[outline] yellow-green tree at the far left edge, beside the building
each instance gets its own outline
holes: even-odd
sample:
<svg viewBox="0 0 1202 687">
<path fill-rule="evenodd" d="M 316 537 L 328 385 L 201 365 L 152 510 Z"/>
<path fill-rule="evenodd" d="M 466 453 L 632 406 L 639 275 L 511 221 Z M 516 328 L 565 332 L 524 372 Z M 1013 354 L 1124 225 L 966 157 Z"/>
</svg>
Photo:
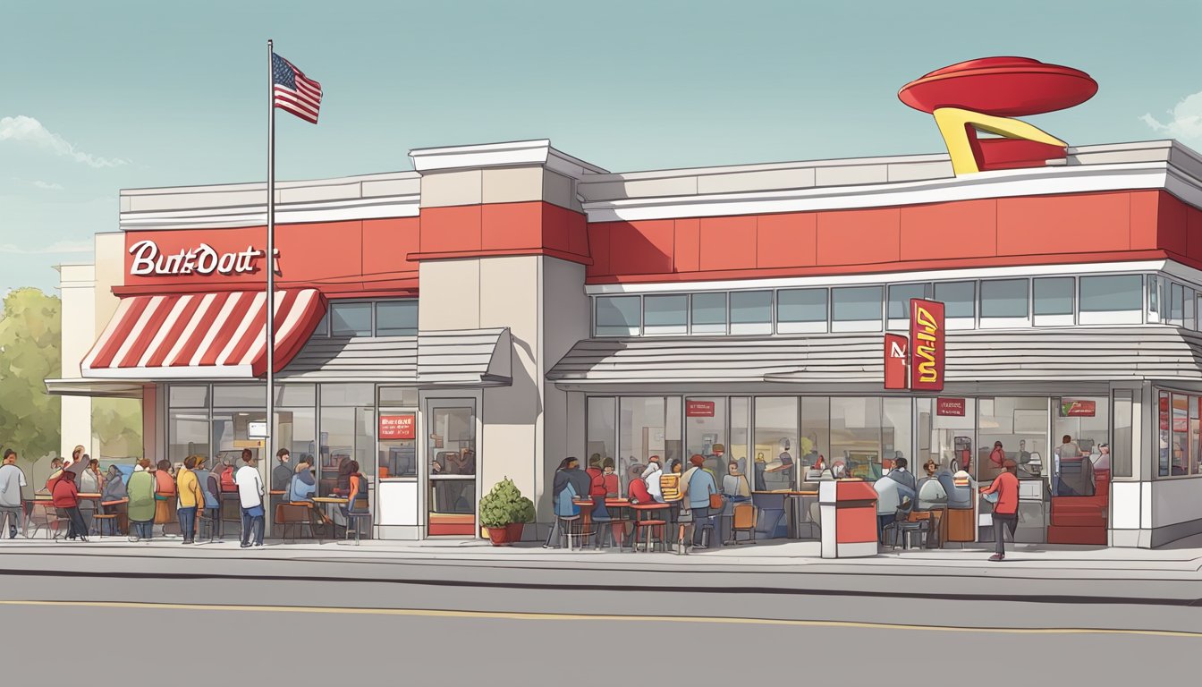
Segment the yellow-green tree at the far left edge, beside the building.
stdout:
<svg viewBox="0 0 1202 687">
<path fill-rule="evenodd" d="M 38 289 L 14 289 L 0 314 L 0 444 L 26 461 L 59 450 L 58 396 L 44 379 L 61 374 L 61 301 Z"/>
</svg>

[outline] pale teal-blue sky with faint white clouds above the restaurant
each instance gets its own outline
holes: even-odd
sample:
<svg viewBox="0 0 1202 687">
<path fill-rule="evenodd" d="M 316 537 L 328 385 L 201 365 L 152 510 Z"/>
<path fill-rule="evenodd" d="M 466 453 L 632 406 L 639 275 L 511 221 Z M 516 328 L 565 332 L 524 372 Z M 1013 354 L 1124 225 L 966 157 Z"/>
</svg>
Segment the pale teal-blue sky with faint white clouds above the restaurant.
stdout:
<svg viewBox="0 0 1202 687">
<path fill-rule="evenodd" d="M 1202 2 L 5 4 L 0 292 L 52 290 L 118 190 L 266 176 L 266 40 L 322 82 L 278 176 L 410 168 L 428 146 L 547 137 L 613 171 L 942 149 L 897 90 L 996 54 L 1089 72 L 1030 118 L 1072 144 L 1202 148 Z"/>
</svg>

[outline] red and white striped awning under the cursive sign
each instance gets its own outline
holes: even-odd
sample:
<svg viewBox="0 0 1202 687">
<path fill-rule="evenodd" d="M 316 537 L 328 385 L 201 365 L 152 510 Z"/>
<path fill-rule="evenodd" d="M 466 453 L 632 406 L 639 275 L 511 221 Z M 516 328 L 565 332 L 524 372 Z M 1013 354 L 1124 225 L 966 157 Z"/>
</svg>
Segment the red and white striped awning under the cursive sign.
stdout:
<svg viewBox="0 0 1202 687">
<path fill-rule="evenodd" d="M 275 292 L 275 371 L 326 314 L 315 289 Z M 267 372 L 263 291 L 130 296 L 81 363 L 106 379 L 245 379 Z"/>
</svg>

